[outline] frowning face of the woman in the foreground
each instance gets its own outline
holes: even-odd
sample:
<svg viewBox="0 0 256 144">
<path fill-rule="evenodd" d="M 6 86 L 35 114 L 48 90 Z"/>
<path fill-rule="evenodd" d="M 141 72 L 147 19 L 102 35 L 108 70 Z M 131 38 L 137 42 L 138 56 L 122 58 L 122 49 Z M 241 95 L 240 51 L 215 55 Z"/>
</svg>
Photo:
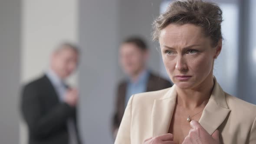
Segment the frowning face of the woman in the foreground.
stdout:
<svg viewBox="0 0 256 144">
<path fill-rule="evenodd" d="M 159 36 L 164 66 L 172 82 L 182 89 L 192 89 L 212 80 L 214 59 L 221 41 L 212 47 L 199 26 L 169 24 Z"/>
</svg>

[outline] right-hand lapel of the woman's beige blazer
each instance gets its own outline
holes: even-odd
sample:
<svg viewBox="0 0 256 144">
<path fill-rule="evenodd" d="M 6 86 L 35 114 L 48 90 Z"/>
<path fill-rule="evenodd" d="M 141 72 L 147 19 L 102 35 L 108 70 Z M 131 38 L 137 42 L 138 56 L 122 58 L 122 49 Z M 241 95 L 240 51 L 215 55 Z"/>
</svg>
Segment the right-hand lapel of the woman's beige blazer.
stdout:
<svg viewBox="0 0 256 144">
<path fill-rule="evenodd" d="M 225 93 L 214 78 L 212 95 L 203 110 L 199 123 L 211 135 L 226 119 L 230 109 L 226 104 Z"/>
</svg>

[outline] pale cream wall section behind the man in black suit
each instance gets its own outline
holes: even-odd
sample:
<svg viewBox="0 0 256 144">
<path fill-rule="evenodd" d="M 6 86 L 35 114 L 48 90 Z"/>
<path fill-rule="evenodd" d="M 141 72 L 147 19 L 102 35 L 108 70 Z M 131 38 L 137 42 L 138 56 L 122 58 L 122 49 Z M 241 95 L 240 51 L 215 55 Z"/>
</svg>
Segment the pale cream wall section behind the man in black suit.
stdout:
<svg viewBox="0 0 256 144">
<path fill-rule="evenodd" d="M 77 0 L 22 0 L 21 82 L 48 68 L 49 56 L 63 41 L 78 42 Z M 77 74 L 69 79 L 76 85 Z M 14 144 L 14 143 L 13 143 Z M 20 144 L 27 144 L 26 124 L 20 124 Z"/>
</svg>

